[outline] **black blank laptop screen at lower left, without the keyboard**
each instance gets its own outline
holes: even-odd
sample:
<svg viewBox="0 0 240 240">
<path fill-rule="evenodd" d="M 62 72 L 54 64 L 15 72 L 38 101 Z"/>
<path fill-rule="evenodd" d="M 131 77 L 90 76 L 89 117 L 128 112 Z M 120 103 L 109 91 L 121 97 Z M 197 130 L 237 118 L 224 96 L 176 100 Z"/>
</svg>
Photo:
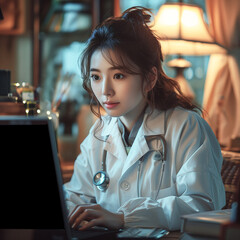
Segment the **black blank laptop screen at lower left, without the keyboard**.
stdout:
<svg viewBox="0 0 240 240">
<path fill-rule="evenodd" d="M 48 120 L 0 118 L 0 229 L 64 229 Z"/>
</svg>

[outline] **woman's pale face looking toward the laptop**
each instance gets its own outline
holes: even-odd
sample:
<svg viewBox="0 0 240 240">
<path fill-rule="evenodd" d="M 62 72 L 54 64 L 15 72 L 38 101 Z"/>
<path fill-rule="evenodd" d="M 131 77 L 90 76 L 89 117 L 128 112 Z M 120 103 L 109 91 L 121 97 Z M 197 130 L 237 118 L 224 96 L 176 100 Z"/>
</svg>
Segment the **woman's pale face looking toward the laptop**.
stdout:
<svg viewBox="0 0 240 240">
<path fill-rule="evenodd" d="M 118 63 L 114 52 L 110 51 L 109 54 L 113 62 Z M 140 72 L 136 65 L 134 67 Z M 114 67 L 101 50 L 96 50 L 91 57 L 90 76 L 92 90 L 107 114 L 120 117 L 127 129 L 131 130 L 146 106 L 142 76 Z"/>
</svg>

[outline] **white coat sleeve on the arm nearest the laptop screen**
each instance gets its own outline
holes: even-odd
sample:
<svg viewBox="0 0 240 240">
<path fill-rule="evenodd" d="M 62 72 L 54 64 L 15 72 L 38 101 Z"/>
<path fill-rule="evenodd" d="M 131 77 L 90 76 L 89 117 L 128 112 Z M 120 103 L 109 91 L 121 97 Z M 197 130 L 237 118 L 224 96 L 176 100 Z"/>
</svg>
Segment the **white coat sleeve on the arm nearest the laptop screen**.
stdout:
<svg viewBox="0 0 240 240">
<path fill-rule="evenodd" d="M 74 163 L 74 172 L 70 182 L 64 184 L 65 200 L 68 211 L 76 205 L 95 203 L 95 193 L 92 184 L 92 171 L 87 156 L 87 140 L 81 145 L 81 153 Z"/>
</svg>

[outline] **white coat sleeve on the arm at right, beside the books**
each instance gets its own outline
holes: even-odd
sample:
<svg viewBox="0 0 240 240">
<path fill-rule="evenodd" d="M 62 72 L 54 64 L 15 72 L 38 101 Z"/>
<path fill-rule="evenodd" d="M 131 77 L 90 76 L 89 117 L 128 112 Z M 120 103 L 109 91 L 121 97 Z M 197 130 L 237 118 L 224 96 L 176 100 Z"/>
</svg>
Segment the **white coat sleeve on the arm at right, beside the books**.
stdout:
<svg viewBox="0 0 240 240">
<path fill-rule="evenodd" d="M 176 196 L 156 201 L 145 197 L 130 199 L 118 209 L 124 213 L 126 227 L 178 230 L 182 215 L 225 205 L 220 174 L 222 155 L 210 127 L 202 119 L 191 118 L 179 136 L 176 146 L 169 149 L 176 152 L 177 174 L 173 179 Z"/>
</svg>

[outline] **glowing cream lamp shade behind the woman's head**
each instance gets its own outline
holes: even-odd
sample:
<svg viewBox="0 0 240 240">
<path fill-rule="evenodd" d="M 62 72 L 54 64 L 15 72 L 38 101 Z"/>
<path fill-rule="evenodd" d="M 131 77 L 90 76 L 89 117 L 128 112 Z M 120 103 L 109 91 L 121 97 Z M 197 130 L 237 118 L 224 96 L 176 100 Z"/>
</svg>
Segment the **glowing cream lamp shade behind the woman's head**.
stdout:
<svg viewBox="0 0 240 240">
<path fill-rule="evenodd" d="M 226 51 L 210 35 L 203 11 L 196 5 L 163 4 L 152 29 L 162 39 L 164 54 L 208 55 Z"/>
</svg>

